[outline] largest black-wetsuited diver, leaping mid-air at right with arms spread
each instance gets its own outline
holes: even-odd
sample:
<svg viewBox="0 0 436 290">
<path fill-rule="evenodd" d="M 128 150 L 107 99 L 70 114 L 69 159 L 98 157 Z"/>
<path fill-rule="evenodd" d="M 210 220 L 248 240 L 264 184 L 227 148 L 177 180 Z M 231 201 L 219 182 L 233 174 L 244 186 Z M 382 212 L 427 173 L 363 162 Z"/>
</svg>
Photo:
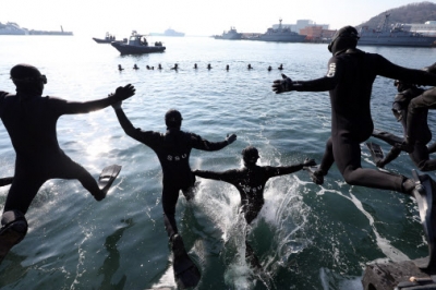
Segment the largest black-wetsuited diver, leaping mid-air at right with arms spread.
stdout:
<svg viewBox="0 0 436 290">
<path fill-rule="evenodd" d="M 332 57 L 324 77 L 312 81 L 282 80 L 272 84 L 277 94 L 329 90 L 331 102 L 331 136 L 327 141 L 319 169 L 313 174 L 323 184 L 331 165 L 336 161 L 346 182 L 374 189 L 392 190 L 412 194 L 415 183 L 401 174 L 366 169 L 361 166 L 360 143 L 366 141 L 374 130 L 371 117 L 371 92 L 377 75 L 407 80 L 417 85 L 435 85 L 436 75 L 396 65 L 377 53 L 356 48 L 358 31 L 352 26 L 340 28 L 328 45 Z"/>
</svg>

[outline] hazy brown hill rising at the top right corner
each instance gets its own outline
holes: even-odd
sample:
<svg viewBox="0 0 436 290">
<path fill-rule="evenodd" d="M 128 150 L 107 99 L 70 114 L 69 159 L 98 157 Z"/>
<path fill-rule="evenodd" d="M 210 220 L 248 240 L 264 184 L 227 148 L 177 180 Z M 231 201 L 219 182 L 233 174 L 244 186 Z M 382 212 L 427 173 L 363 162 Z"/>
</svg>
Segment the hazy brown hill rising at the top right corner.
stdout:
<svg viewBox="0 0 436 290">
<path fill-rule="evenodd" d="M 426 21 L 436 21 L 436 3 L 425 1 L 390 9 L 388 11 L 382 12 L 377 16 L 372 17 L 365 23 L 359 24 L 356 27 L 377 27 L 385 19 L 386 13 L 390 14 L 389 23 L 391 24 L 425 23 Z"/>
</svg>

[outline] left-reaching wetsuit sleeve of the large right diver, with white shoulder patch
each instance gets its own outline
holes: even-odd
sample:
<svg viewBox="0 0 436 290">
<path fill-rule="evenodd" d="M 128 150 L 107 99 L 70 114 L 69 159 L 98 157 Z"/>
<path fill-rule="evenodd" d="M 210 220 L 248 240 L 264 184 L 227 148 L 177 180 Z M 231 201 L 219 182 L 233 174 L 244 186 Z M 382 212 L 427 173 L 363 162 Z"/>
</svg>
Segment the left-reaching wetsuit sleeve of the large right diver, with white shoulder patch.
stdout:
<svg viewBox="0 0 436 290">
<path fill-rule="evenodd" d="M 338 84 L 342 67 L 337 58 L 331 58 L 328 62 L 328 71 L 324 77 L 312 81 L 295 81 L 293 82 L 293 90 L 298 92 L 326 92 L 331 90 Z"/>
</svg>

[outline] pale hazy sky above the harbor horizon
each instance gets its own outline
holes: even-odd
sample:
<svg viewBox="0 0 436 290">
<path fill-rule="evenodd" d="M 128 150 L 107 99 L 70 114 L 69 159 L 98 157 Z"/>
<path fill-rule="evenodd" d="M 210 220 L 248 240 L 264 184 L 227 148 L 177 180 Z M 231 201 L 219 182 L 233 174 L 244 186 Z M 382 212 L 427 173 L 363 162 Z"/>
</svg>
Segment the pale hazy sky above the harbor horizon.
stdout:
<svg viewBox="0 0 436 290">
<path fill-rule="evenodd" d="M 283 24 L 312 20 L 331 29 L 358 25 L 413 0 L 1 0 L 0 22 L 31 29 L 102 36 L 147 34 L 171 27 L 186 35 L 214 35 L 235 26 L 242 33 L 264 33 L 281 17 Z M 431 1 L 435 2 L 435 1 Z"/>
</svg>

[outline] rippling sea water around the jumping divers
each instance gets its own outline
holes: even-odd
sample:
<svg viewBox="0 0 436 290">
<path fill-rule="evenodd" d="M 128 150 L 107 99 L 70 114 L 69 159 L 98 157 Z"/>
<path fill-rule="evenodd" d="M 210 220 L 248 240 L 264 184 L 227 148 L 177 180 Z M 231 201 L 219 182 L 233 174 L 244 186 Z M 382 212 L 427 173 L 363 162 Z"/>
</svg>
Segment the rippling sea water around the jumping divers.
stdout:
<svg viewBox="0 0 436 290">
<path fill-rule="evenodd" d="M 213 142 L 238 135 L 219 152 L 194 149 L 193 169 L 239 168 L 247 145 L 258 148 L 262 166 L 288 166 L 306 157 L 320 161 L 330 131 L 328 93 L 276 95 L 271 84 L 280 73 L 293 80 L 323 76 L 330 58 L 327 45 L 207 37 L 156 37 L 149 43 L 156 40 L 167 47 L 164 53 L 120 56 L 90 37 L 2 36 L 0 89 L 13 93 L 10 69 L 31 63 L 47 75 L 44 95 L 72 101 L 104 98 L 118 86 L 134 85 L 136 94 L 123 108 L 136 128 L 165 132 L 164 116 L 174 108 L 183 116 L 182 130 Z M 414 69 L 436 59 L 433 48 L 362 49 Z M 178 71 L 170 70 L 174 63 Z M 209 63 L 211 70 L 206 69 Z M 253 70 L 246 69 L 249 63 Z M 280 63 L 283 71 L 277 70 Z M 118 64 L 124 70 L 120 72 Z M 140 70 L 133 70 L 134 64 Z M 377 129 L 401 135 L 390 110 L 392 83 L 376 78 L 373 119 Z M 434 131 L 433 112 L 429 119 Z M 58 138 L 61 148 L 95 178 L 111 164 L 121 165 L 122 171 L 102 202 L 77 181 L 47 181 L 26 214 L 26 238 L 0 265 L 0 288 L 175 289 L 162 220 L 162 173 L 154 152 L 124 134 L 110 107 L 61 117 Z M 364 144 L 361 147 L 362 166 L 375 168 Z M 14 158 L 0 125 L 0 177 L 13 176 Z M 413 168 L 405 154 L 387 166 L 405 176 Z M 202 271 L 197 289 L 362 289 L 367 263 L 428 253 L 412 198 L 350 186 L 336 166 L 322 186 L 304 171 L 270 179 L 265 206 L 250 227 L 239 215 L 240 196 L 233 186 L 198 181 L 195 200 L 186 202 L 181 195 L 177 206 L 186 250 Z M 8 191 L 9 186 L 0 189 L 0 209 Z M 245 239 L 259 257 L 262 275 L 244 259 Z"/>
</svg>

